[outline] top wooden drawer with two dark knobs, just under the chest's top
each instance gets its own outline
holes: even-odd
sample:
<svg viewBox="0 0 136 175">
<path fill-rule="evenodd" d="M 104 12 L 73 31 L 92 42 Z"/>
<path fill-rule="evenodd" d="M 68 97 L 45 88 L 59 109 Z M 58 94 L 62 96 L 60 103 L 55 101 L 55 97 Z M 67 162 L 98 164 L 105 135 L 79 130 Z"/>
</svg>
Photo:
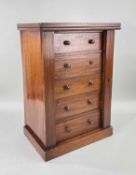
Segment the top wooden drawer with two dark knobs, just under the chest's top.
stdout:
<svg viewBox="0 0 136 175">
<path fill-rule="evenodd" d="M 101 48 L 102 48 L 102 33 L 54 34 L 55 53 L 101 50 Z"/>
</svg>

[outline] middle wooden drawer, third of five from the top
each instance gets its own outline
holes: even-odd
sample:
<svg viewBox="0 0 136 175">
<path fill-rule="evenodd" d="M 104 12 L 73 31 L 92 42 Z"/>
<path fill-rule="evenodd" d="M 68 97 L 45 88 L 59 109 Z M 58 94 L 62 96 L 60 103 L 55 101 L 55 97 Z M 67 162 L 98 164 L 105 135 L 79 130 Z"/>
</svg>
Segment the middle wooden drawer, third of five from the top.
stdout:
<svg viewBox="0 0 136 175">
<path fill-rule="evenodd" d="M 101 75 L 89 75 L 55 81 L 55 99 L 100 89 Z"/>
</svg>

